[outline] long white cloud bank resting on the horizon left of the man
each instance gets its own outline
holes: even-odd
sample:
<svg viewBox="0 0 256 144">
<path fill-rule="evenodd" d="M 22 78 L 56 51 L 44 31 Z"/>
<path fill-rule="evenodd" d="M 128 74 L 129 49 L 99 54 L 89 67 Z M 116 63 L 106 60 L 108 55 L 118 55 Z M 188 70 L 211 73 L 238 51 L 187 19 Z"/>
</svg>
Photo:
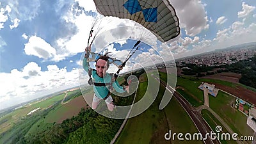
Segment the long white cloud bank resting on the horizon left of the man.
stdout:
<svg viewBox="0 0 256 144">
<path fill-rule="evenodd" d="M 52 92 L 79 85 L 78 68 L 67 72 L 66 68 L 48 65 L 46 71 L 35 62 L 28 63 L 22 70 L 0 73 L 0 106 L 6 108 L 27 100 L 36 99 Z"/>
</svg>

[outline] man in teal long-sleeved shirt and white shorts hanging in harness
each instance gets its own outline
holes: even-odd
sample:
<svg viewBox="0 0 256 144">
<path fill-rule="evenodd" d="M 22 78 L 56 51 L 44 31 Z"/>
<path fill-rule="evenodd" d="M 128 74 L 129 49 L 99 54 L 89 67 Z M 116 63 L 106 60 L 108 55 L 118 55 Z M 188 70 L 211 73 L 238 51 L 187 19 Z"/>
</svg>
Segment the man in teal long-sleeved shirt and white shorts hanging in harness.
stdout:
<svg viewBox="0 0 256 144">
<path fill-rule="evenodd" d="M 91 45 L 86 49 L 87 52 L 91 51 Z M 113 88 L 118 93 L 124 93 L 129 92 L 129 86 L 125 86 L 125 89 L 118 84 L 117 81 L 113 81 L 113 76 L 111 74 L 108 74 L 107 70 L 109 68 L 109 61 L 108 56 L 106 54 L 104 56 L 100 56 L 100 58 L 96 61 L 96 70 L 92 70 L 92 77 L 93 77 L 93 102 L 92 102 L 92 109 L 96 109 L 100 100 L 105 100 L 109 111 L 113 111 L 114 109 L 114 103 L 113 99 L 109 92 L 109 87 L 113 86 Z M 88 70 L 88 61 L 86 56 L 84 56 L 83 60 L 83 68 L 86 70 L 86 72 L 89 72 Z M 95 84 L 96 83 L 96 84 Z M 105 84 L 105 85 L 104 85 Z"/>
</svg>

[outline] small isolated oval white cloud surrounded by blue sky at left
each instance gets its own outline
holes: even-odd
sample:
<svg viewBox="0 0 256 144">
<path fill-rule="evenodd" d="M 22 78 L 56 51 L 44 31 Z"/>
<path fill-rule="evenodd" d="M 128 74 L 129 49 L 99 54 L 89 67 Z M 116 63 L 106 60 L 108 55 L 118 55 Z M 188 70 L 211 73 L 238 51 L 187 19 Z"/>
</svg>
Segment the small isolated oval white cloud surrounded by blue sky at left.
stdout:
<svg viewBox="0 0 256 144">
<path fill-rule="evenodd" d="M 38 56 L 47 60 L 56 55 L 56 50 L 45 40 L 37 36 L 31 36 L 27 44 L 25 44 L 24 51 L 28 55 Z"/>
</svg>

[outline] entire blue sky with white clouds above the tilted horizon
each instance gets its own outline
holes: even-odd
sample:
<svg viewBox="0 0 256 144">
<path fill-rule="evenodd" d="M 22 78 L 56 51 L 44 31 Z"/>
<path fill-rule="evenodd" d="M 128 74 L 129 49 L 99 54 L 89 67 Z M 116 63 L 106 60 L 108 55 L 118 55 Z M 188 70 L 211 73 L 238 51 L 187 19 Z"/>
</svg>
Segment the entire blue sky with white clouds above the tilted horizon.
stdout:
<svg viewBox="0 0 256 144">
<path fill-rule="evenodd" d="M 177 59 L 256 41 L 255 0 L 170 3 L 179 17 L 180 35 L 161 44 L 131 20 L 100 17 L 92 0 L 0 0 L 0 109 L 78 86 L 79 79 L 87 79 L 81 60 L 96 22 L 92 50 L 108 49 L 120 60 L 133 44 L 125 39 L 124 27 L 126 32 L 135 25 L 143 31 L 145 44 L 124 72 L 134 63 L 146 64 L 148 58 L 153 62 Z"/>
</svg>

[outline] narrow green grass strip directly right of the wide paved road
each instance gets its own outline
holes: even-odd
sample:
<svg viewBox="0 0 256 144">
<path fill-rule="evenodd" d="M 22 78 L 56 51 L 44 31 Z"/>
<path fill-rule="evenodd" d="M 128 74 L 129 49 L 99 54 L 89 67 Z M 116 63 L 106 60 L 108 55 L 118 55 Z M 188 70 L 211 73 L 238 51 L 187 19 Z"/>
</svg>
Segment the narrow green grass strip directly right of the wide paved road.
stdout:
<svg viewBox="0 0 256 144">
<path fill-rule="evenodd" d="M 206 120 L 207 124 L 210 125 L 212 131 L 216 134 L 220 134 L 219 140 L 221 144 L 231 144 L 231 143 L 236 143 L 236 141 L 232 140 L 232 134 L 230 134 L 230 140 L 225 140 L 225 137 L 221 138 L 221 134 L 223 133 L 229 133 L 227 129 L 221 124 L 221 122 L 215 118 L 210 111 L 207 109 L 202 110 L 202 116 Z M 221 132 L 216 132 L 216 127 L 221 126 L 222 131 Z M 217 135 L 218 136 L 218 135 Z M 224 135 L 223 135 L 224 136 Z M 228 138 L 228 137 L 227 137 Z"/>
</svg>

